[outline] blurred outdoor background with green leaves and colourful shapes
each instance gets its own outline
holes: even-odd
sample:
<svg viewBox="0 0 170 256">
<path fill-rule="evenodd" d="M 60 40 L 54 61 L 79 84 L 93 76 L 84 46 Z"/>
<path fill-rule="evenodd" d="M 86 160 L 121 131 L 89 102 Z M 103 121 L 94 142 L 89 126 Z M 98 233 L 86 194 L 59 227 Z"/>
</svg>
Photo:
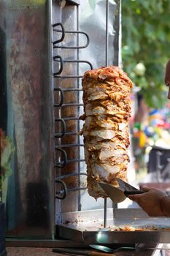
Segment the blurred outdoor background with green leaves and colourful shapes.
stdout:
<svg viewBox="0 0 170 256">
<path fill-rule="evenodd" d="M 134 82 L 131 162 L 137 182 L 169 181 L 170 102 L 164 84 L 169 10 L 168 0 L 122 1 L 122 68 Z"/>
</svg>

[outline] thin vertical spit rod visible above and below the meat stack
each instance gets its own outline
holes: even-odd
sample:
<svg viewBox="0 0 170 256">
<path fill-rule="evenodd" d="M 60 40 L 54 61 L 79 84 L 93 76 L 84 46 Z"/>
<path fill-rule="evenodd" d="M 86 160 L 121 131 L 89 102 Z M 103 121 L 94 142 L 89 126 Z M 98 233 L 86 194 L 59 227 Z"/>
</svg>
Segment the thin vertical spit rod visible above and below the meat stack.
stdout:
<svg viewBox="0 0 170 256">
<path fill-rule="evenodd" d="M 109 21 L 109 0 L 106 2 L 106 67 L 108 66 L 108 21 Z M 104 199 L 104 227 L 107 227 L 107 198 Z"/>
</svg>

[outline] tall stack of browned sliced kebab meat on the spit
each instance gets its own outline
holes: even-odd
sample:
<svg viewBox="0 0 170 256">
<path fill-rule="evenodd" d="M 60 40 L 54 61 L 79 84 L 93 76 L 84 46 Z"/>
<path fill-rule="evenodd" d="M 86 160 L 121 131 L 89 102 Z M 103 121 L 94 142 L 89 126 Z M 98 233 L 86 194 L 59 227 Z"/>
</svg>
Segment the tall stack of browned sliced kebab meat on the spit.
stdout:
<svg viewBox="0 0 170 256">
<path fill-rule="evenodd" d="M 117 187 L 116 178 L 126 180 L 129 162 L 130 92 L 133 83 L 119 67 L 101 67 L 82 78 L 85 120 L 85 162 L 88 193 L 107 197 L 98 181 Z"/>
</svg>

